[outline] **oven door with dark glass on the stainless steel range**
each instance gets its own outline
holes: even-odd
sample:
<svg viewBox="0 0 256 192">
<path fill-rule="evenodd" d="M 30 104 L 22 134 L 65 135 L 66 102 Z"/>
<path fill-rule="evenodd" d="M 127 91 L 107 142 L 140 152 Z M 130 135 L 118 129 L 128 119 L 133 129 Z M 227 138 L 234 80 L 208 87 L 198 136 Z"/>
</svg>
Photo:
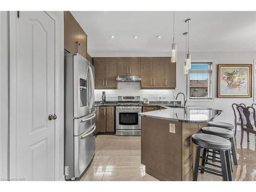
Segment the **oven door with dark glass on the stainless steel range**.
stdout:
<svg viewBox="0 0 256 192">
<path fill-rule="evenodd" d="M 140 130 L 141 110 L 116 110 L 116 130 Z"/>
</svg>

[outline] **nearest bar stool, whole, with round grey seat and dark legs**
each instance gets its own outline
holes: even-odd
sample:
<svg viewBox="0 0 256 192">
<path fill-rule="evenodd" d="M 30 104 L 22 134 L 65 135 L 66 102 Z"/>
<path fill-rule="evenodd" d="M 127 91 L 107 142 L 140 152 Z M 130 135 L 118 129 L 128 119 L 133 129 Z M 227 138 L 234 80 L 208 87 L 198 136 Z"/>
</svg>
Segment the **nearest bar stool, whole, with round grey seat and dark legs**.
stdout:
<svg viewBox="0 0 256 192">
<path fill-rule="evenodd" d="M 231 165 L 229 159 L 229 150 L 231 148 L 230 141 L 222 137 L 209 134 L 194 134 L 192 135 L 191 139 L 192 142 L 197 145 L 193 181 L 197 181 L 199 170 L 203 170 L 206 173 L 221 176 L 223 181 L 232 181 Z M 220 157 L 216 157 L 216 159 L 218 159 L 216 160 L 216 162 L 219 162 L 221 165 L 216 165 L 212 163 L 206 164 L 221 168 L 221 171 L 210 167 L 206 167 L 205 164 L 199 165 L 200 158 L 203 159 L 204 161 L 212 161 L 211 158 L 200 156 L 201 148 L 216 150 L 217 153 L 219 153 Z"/>
</svg>

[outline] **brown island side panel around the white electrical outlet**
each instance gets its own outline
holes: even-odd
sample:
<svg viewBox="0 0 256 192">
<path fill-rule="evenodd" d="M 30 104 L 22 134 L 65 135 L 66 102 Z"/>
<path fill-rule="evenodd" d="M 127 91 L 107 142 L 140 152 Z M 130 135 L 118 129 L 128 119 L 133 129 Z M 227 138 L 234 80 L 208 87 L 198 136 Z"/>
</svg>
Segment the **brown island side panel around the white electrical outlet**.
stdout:
<svg viewBox="0 0 256 192">
<path fill-rule="evenodd" d="M 169 132 L 175 124 L 175 133 Z M 141 163 L 162 181 L 182 180 L 182 123 L 141 117 Z"/>
</svg>

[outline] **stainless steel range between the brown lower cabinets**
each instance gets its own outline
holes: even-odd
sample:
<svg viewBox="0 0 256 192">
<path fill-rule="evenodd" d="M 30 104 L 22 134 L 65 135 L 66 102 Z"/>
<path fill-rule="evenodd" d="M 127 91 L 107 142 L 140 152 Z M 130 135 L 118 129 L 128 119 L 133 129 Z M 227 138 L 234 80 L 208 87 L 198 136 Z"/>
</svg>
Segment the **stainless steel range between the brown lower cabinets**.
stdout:
<svg viewBox="0 0 256 192">
<path fill-rule="evenodd" d="M 140 136 L 141 113 L 140 96 L 118 96 L 116 106 L 116 135 Z"/>
</svg>

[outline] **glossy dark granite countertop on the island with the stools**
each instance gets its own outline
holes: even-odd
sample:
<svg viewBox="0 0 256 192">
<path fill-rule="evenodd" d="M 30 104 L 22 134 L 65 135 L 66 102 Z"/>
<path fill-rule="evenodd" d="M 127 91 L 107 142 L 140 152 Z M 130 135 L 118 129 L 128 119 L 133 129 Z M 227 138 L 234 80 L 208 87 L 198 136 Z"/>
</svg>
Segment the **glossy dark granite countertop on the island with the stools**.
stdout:
<svg viewBox="0 0 256 192">
<path fill-rule="evenodd" d="M 139 113 L 139 115 L 142 117 L 152 117 L 169 121 L 206 123 L 220 115 L 222 112 L 222 110 L 198 106 L 187 106 L 186 108 L 173 108 L 165 106 L 165 108 L 167 109 Z"/>
</svg>

